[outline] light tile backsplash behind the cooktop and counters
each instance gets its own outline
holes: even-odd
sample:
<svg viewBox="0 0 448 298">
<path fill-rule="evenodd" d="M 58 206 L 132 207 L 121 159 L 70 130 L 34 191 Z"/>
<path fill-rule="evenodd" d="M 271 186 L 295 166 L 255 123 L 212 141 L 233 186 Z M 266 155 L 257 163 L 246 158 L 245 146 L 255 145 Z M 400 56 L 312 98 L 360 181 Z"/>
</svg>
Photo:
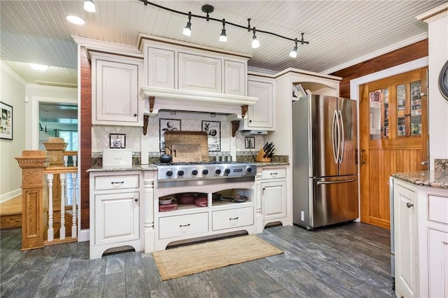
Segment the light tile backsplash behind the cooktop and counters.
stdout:
<svg viewBox="0 0 448 298">
<path fill-rule="evenodd" d="M 109 134 L 126 134 L 126 148 L 132 149 L 135 155 L 140 155 L 141 143 L 147 145 L 149 156 L 159 156 L 160 154 L 160 119 L 181 120 L 181 130 L 200 132 L 202 130 L 202 120 L 218 121 L 221 123 L 221 150 L 219 152 L 209 151 L 209 155 L 225 154 L 232 151 L 247 152 L 248 155 L 256 152 L 264 146 L 264 136 L 255 137 L 255 148 L 245 148 L 245 136 L 237 132 L 235 140 L 232 140 L 232 123 L 225 115 L 215 115 L 210 113 L 183 113 L 183 112 L 160 112 L 155 117 L 150 117 L 148 122 L 148 133 L 143 134 L 141 127 L 109 126 L 97 125 L 92 127 L 92 157 L 100 155 L 103 149 L 109 148 Z M 164 121 L 162 121 L 164 122 Z M 164 122 L 165 123 L 165 122 Z"/>
</svg>

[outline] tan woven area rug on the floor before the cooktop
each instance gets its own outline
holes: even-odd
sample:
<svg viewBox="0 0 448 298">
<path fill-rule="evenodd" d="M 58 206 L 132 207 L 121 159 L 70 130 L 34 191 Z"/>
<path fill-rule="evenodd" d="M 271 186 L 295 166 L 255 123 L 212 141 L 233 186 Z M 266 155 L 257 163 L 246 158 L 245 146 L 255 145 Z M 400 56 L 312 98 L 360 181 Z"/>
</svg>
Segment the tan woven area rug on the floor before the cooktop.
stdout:
<svg viewBox="0 0 448 298">
<path fill-rule="evenodd" d="M 255 235 L 209 241 L 153 253 L 163 281 L 279 255 L 283 251 Z"/>
</svg>

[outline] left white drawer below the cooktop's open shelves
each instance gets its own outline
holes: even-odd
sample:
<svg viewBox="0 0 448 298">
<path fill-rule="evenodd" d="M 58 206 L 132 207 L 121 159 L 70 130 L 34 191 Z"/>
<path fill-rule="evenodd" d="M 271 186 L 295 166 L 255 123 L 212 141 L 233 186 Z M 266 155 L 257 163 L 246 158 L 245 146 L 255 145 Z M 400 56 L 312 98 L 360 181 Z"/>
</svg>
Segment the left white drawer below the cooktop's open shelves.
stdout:
<svg viewBox="0 0 448 298">
<path fill-rule="evenodd" d="M 209 213 L 159 218 L 159 238 L 167 239 L 209 231 Z"/>
</svg>

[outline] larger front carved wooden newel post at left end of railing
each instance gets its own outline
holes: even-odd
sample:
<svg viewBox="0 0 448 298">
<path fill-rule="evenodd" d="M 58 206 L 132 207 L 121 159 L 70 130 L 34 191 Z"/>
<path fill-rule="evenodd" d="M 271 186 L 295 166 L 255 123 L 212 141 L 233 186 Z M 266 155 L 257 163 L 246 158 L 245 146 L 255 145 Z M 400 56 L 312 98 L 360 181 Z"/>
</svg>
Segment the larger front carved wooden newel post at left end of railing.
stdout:
<svg viewBox="0 0 448 298">
<path fill-rule="evenodd" d="M 50 159 L 43 150 L 24 150 L 15 157 L 22 169 L 22 250 L 43 247 L 43 169 Z"/>
</svg>

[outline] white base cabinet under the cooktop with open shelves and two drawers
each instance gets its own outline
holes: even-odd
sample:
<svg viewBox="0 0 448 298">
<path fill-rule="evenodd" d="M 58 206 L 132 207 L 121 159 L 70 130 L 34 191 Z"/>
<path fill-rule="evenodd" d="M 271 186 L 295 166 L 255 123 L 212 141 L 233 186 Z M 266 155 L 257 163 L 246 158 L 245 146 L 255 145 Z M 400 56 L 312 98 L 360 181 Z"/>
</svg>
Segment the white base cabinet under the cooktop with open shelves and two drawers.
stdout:
<svg viewBox="0 0 448 298">
<path fill-rule="evenodd" d="M 255 191 L 253 181 L 224 185 L 186 185 L 154 188 L 154 251 L 165 250 L 170 243 L 210 239 L 224 233 L 255 233 Z M 179 197 L 183 193 L 207 194 L 207 206 L 179 204 L 173 211 L 160 211 L 159 198 Z M 219 199 L 223 194 L 241 195 L 246 201 Z M 218 195 L 218 199 L 213 199 Z"/>
</svg>

